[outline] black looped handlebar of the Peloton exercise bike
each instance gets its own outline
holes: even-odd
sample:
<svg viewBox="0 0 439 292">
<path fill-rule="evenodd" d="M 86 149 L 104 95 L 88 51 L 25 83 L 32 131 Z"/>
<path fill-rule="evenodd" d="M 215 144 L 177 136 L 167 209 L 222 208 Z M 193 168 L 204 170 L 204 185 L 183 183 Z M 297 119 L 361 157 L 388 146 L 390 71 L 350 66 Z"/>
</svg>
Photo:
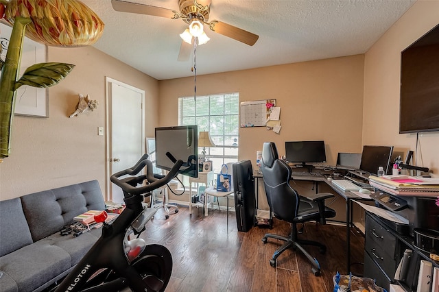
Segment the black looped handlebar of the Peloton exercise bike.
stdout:
<svg viewBox="0 0 439 292">
<path fill-rule="evenodd" d="M 137 161 L 137 163 L 130 167 L 129 169 L 125 169 L 123 171 L 119 171 L 113 175 L 110 176 L 110 180 L 112 183 L 116 184 L 120 188 L 122 188 L 123 191 L 126 191 L 126 193 L 130 193 L 131 195 L 141 195 L 144 193 L 150 193 L 151 191 L 154 191 L 156 188 L 160 188 L 161 186 L 164 186 L 168 182 L 170 182 L 173 178 L 176 177 L 178 174 L 178 171 L 180 170 L 180 167 L 182 166 L 183 162 L 182 160 L 177 160 L 174 163 L 174 166 L 171 168 L 171 170 L 165 175 L 163 178 L 156 178 L 154 177 L 154 173 L 152 171 L 152 162 L 151 160 L 147 160 L 148 155 L 143 154 L 143 156 Z M 119 177 L 122 175 L 137 175 L 144 167 L 146 168 L 146 179 L 149 182 L 146 186 L 132 186 L 127 181 L 128 180 L 119 180 Z M 142 176 L 140 176 L 142 177 Z M 144 180 L 144 175 L 143 179 Z"/>
</svg>

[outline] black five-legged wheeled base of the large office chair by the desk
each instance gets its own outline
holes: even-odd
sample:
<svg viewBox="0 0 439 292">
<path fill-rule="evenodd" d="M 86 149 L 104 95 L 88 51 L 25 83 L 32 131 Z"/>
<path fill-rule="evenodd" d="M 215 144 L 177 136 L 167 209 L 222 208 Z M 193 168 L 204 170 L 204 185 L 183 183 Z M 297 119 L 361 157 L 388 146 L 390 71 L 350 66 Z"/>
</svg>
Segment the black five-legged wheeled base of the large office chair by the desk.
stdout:
<svg viewBox="0 0 439 292">
<path fill-rule="evenodd" d="M 279 247 L 276 252 L 274 252 L 273 257 L 270 259 L 270 265 L 272 267 L 276 267 L 276 260 L 278 256 L 280 256 L 285 250 L 288 250 L 289 248 L 292 248 L 293 250 L 300 250 L 302 254 L 304 254 L 311 265 L 311 271 L 313 272 L 314 276 L 320 276 L 320 265 L 318 263 L 318 260 L 316 258 L 313 258 L 311 254 L 309 254 L 302 245 L 313 245 L 320 247 L 320 254 L 324 254 L 327 251 L 327 247 L 323 245 L 322 243 L 318 243 L 317 241 L 307 241 L 307 240 L 301 240 L 297 238 L 297 226 L 296 223 L 292 223 L 292 232 L 289 234 L 289 237 L 281 236 L 278 234 L 265 234 L 262 238 L 263 243 L 267 243 L 268 239 L 278 239 L 281 241 L 285 241 L 285 243 Z"/>
</svg>

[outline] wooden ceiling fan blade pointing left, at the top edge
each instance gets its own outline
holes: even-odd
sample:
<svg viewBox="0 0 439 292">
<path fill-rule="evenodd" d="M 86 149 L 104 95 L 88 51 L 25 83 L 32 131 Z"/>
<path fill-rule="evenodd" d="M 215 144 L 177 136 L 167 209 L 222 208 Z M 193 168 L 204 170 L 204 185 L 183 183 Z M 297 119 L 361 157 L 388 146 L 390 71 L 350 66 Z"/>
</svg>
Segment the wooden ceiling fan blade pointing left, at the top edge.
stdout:
<svg viewBox="0 0 439 292">
<path fill-rule="evenodd" d="M 120 12 L 147 14 L 152 16 L 166 17 L 168 19 L 178 19 L 178 13 L 176 11 L 152 5 L 132 3 L 120 0 L 111 0 L 111 5 L 114 10 Z"/>
</svg>

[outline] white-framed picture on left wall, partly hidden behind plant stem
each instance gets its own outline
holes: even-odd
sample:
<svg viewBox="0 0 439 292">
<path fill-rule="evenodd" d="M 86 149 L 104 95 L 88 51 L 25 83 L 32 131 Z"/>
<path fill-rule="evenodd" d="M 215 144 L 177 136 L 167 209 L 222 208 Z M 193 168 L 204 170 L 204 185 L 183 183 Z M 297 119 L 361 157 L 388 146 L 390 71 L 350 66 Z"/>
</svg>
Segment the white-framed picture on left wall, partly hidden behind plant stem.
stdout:
<svg viewBox="0 0 439 292">
<path fill-rule="evenodd" d="M 0 45 L 3 49 L 0 58 L 4 60 L 8 52 L 12 27 L 0 23 L 0 31 Z M 45 62 L 47 62 L 47 46 L 25 37 L 19 68 L 20 77 L 29 66 Z M 20 86 L 16 90 L 15 114 L 30 117 L 49 117 L 47 88 Z"/>
</svg>

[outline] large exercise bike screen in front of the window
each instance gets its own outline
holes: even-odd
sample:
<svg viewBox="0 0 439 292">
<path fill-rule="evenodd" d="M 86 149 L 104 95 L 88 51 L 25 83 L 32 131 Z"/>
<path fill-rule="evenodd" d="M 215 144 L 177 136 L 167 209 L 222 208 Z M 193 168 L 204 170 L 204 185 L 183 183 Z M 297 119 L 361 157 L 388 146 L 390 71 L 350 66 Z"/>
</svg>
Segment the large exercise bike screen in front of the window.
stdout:
<svg viewBox="0 0 439 292">
<path fill-rule="evenodd" d="M 157 167 L 170 170 L 175 158 L 184 162 L 179 173 L 198 178 L 197 125 L 156 127 L 155 132 Z"/>
</svg>

